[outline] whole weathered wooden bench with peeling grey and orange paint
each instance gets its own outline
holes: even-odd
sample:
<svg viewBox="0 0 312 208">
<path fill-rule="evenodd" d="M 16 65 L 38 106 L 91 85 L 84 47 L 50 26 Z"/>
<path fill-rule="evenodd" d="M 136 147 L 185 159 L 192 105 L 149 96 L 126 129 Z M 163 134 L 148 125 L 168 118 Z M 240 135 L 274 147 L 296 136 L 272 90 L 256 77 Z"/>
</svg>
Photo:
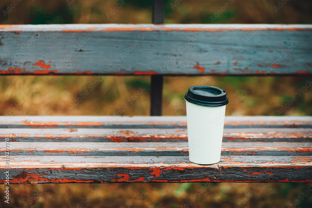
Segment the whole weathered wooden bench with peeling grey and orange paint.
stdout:
<svg viewBox="0 0 312 208">
<path fill-rule="evenodd" d="M 164 75 L 311 76 L 312 26 L 162 25 L 163 1 L 153 18 L 0 25 L 2 75 L 151 76 L 150 117 L 1 116 L 10 183 L 311 182 L 311 116 L 227 116 L 221 162 L 198 165 L 186 117 L 160 115 Z"/>
</svg>

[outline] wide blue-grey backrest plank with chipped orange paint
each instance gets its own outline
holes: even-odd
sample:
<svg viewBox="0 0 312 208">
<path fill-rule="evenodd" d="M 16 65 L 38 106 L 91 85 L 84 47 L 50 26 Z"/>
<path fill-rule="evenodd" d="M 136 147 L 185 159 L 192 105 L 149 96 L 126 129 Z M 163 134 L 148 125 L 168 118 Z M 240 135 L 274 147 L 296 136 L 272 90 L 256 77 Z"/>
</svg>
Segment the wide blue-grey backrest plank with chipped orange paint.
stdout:
<svg viewBox="0 0 312 208">
<path fill-rule="evenodd" d="M 312 73 L 312 25 L 0 25 L 0 37 L 2 75 Z"/>
</svg>

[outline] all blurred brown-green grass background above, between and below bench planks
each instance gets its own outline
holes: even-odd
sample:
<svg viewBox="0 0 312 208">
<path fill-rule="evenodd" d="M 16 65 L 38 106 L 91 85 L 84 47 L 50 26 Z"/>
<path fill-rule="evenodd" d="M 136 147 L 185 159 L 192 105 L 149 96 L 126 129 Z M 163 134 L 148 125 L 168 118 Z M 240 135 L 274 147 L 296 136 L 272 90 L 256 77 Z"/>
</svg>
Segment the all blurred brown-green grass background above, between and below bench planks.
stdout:
<svg viewBox="0 0 312 208">
<path fill-rule="evenodd" d="M 118 0 L 22 0 L 12 11 L 12 0 L 0 2 L 0 24 L 151 23 L 152 1 L 125 0 L 109 19 L 107 13 Z M 310 1 L 285 1 L 276 10 L 276 0 L 183 0 L 165 1 L 165 23 L 211 23 L 210 16 L 226 2 L 233 2 L 214 23 L 311 24 Z M 179 2 L 179 3 L 177 3 Z M 177 5 L 172 7 L 172 5 Z M 1 51 L 0 53 L 5 53 Z M 165 77 L 163 115 L 186 115 L 183 95 L 199 83 L 227 91 L 227 115 L 277 115 L 296 90 L 312 77 Z M 149 76 L 106 76 L 93 90 L 97 76 L 0 76 L 0 115 L 114 115 L 140 88 L 146 89 L 121 115 L 149 115 Z M 36 92 L 36 88 L 39 88 Z M 79 94 L 90 94 L 74 106 Z M 249 94 L 236 102 L 242 90 Z M 312 115 L 312 89 L 282 115 Z M 302 201 L 299 194 L 311 183 L 149 183 L 149 184 L 30 184 L 10 185 L 10 204 L 2 207 L 312 207 L 312 194 Z M 203 188 L 204 187 L 204 188 Z M 3 199 L 5 185 L 0 186 Z M 202 188 L 198 196 L 198 190 Z M 140 199 L 142 192 L 148 193 Z M 87 203 L 83 198 L 91 194 Z M 252 196 L 248 201 L 244 197 Z M 238 204 L 244 202 L 244 204 Z M 77 204 L 78 203 L 78 204 Z"/>
</svg>

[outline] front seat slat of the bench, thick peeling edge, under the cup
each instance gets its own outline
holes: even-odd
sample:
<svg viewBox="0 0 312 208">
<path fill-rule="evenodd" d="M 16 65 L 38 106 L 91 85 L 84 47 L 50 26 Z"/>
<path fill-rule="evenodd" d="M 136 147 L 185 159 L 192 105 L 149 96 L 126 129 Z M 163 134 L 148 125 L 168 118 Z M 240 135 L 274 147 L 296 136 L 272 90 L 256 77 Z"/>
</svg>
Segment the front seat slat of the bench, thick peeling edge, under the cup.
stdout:
<svg viewBox="0 0 312 208">
<path fill-rule="evenodd" d="M 11 156 L 9 170 L 10 183 L 312 182 L 312 157 L 222 156 L 198 165 L 187 156 Z"/>
</svg>

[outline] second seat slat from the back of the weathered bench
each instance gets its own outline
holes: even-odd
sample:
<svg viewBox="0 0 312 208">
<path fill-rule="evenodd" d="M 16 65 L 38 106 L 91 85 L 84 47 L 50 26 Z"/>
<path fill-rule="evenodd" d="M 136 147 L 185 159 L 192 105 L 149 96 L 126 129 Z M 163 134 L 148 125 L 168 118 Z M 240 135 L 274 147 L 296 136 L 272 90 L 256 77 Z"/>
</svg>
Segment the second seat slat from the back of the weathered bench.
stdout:
<svg viewBox="0 0 312 208">
<path fill-rule="evenodd" d="M 2 128 L 16 142 L 186 142 L 187 129 Z M 224 142 L 312 142 L 310 128 L 225 128 Z"/>
</svg>

